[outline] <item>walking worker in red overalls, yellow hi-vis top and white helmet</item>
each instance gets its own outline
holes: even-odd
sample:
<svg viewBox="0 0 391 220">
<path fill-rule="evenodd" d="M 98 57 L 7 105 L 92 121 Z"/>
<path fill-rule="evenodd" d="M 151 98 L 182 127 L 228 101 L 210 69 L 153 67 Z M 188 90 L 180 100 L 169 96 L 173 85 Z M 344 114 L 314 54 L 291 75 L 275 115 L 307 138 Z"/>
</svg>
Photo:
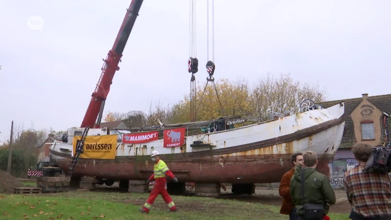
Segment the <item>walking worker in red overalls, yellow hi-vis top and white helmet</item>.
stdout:
<svg viewBox="0 0 391 220">
<path fill-rule="evenodd" d="M 174 182 L 178 182 L 178 179 L 174 176 L 173 172 L 168 169 L 166 163 L 163 160 L 159 159 L 158 155 L 159 152 L 152 151 L 151 157 L 152 160 L 155 162 L 155 165 L 153 166 L 153 174 L 148 179 L 148 182 L 155 180 L 155 185 L 153 186 L 153 189 L 147 202 L 140 209 L 140 212 L 142 213 L 148 213 L 150 211 L 153 202 L 155 201 L 156 197 L 159 196 L 159 194 L 162 195 L 163 200 L 167 203 L 168 207 L 170 207 L 171 212 L 177 211 L 173 199 L 170 197 L 170 195 L 168 195 L 167 192 L 166 175 L 173 178 Z"/>
</svg>

